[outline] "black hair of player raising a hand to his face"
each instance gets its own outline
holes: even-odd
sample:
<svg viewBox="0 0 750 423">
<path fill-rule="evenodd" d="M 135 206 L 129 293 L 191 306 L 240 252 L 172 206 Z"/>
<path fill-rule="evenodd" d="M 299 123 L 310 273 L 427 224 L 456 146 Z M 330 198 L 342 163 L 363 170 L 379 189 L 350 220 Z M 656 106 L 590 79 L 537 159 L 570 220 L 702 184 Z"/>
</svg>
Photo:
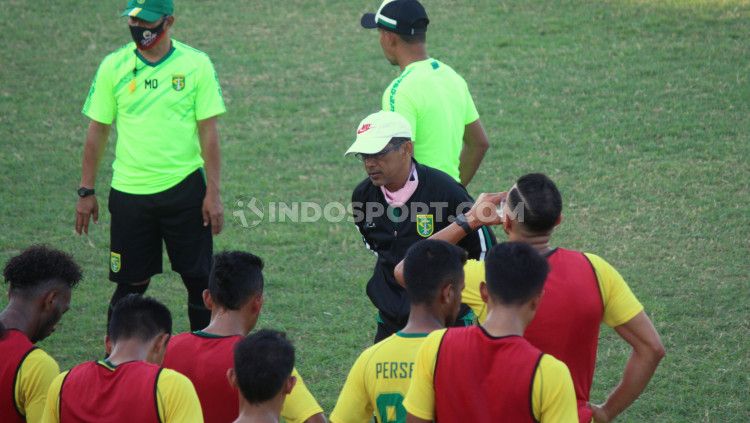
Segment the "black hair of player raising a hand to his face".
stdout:
<svg viewBox="0 0 750 423">
<path fill-rule="evenodd" d="M 516 181 L 508 193 L 508 206 L 516 210 L 523 202 L 523 226 L 532 232 L 549 232 L 562 213 L 562 196 L 547 175 L 529 173 Z"/>
</svg>

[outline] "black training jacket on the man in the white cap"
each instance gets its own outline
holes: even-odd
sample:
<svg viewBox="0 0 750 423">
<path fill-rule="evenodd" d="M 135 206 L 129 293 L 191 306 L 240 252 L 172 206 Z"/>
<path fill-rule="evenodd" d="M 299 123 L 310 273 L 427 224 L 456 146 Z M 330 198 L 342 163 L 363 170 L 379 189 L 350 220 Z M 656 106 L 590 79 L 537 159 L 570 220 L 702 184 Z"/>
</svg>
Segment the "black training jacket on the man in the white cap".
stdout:
<svg viewBox="0 0 750 423">
<path fill-rule="evenodd" d="M 450 225 L 456 213 L 465 213 L 474 202 L 466 188 L 448 174 L 419 163 L 416 169 L 419 184 L 401 208 L 400 217 L 398 211 L 389 208 L 380 187 L 369 178 L 360 182 L 352 193 L 355 225 L 367 248 L 377 256 L 367 283 L 367 296 L 385 318 L 399 325 L 405 325 L 409 317 L 409 300 L 396 282 L 393 269 L 412 244 Z M 378 205 L 384 213 L 379 213 Z M 399 219 L 402 221 L 398 222 Z M 483 260 L 494 244 L 495 235 L 490 228 L 481 227 L 458 245 L 469 253 L 469 258 Z"/>
</svg>

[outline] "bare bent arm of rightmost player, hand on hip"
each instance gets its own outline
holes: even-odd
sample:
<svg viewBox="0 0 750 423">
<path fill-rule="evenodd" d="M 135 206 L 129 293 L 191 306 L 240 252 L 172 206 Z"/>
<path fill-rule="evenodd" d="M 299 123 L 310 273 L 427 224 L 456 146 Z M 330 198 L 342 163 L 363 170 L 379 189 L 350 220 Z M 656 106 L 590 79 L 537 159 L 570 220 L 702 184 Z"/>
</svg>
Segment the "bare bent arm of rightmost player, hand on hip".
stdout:
<svg viewBox="0 0 750 423">
<path fill-rule="evenodd" d="M 625 365 L 620 384 L 601 405 L 592 405 L 594 421 L 609 422 L 641 395 L 656 367 L 665 355 L 664 345 L 651 319 L 638 313 L 625 324 L 615 327 L 618 335 L 633 348 Z"/>
</svg>

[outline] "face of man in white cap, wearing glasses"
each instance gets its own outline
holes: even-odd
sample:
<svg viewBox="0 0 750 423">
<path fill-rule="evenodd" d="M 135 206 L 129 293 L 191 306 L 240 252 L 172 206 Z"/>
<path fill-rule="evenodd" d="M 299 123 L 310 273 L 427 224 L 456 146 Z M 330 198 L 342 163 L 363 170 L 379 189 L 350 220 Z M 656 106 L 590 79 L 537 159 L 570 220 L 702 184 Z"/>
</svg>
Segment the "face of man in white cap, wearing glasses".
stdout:
<svg viewBox="0 0 750 423">
<path fill-rule="evenodd" d="M 388 145 L 381 153 L 364 157 L 365 172 L 372 184 L 390 191 L 403 187 L 409 177 L 413 151 L 412 143 L 405 142 L 398 147 Z"/>
</svg>

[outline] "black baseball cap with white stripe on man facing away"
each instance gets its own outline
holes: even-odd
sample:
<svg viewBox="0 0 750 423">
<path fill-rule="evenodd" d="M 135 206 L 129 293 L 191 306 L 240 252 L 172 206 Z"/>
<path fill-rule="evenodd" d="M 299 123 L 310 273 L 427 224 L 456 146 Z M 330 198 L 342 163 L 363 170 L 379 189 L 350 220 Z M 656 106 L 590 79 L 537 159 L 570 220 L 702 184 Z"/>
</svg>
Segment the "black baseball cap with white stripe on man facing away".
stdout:
<svg viewBox="0 0 750 423">
<path fill-rule="evenodd" d="M 384 0 L 378 11 L 362 15 L 364 28 L 382 28 L 402 35 L 427 32 L 427 12 L 417 0 Z"/>
</svg>

